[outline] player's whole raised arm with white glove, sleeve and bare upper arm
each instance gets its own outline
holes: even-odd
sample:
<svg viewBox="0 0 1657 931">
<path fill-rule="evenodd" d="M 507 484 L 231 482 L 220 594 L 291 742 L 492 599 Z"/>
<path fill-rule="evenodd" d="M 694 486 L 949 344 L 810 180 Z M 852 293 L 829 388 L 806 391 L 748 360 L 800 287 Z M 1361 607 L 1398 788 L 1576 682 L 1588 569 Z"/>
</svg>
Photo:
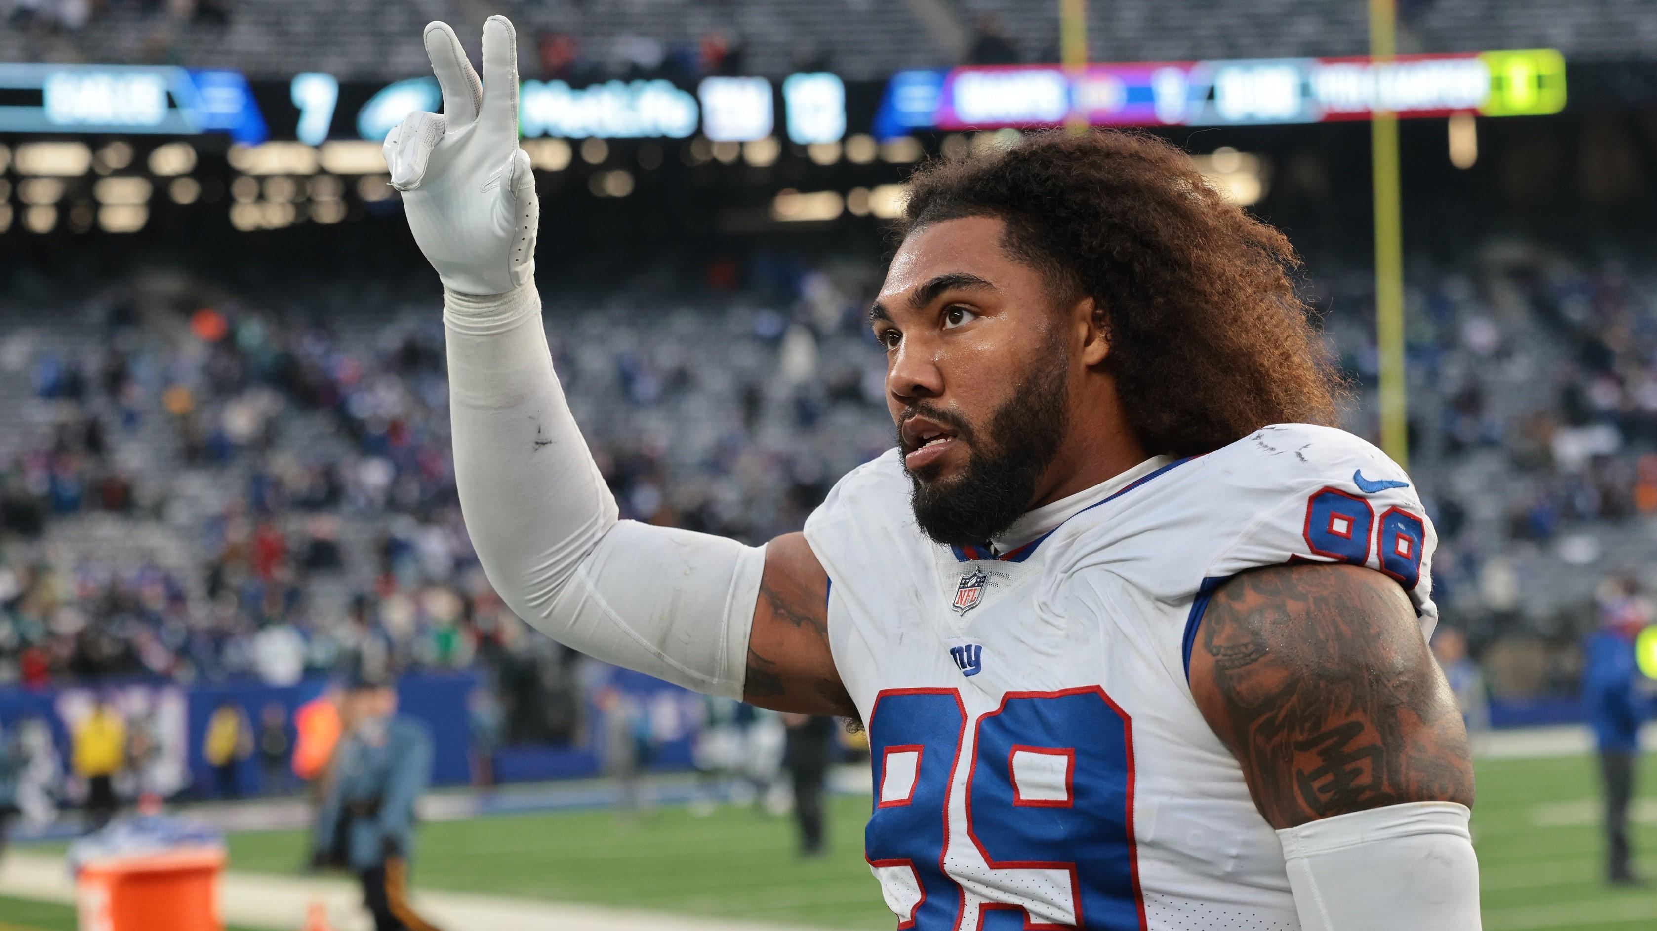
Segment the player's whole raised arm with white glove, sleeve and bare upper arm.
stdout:
<svg viewBox="0 0 1657 931">
<path fill-rule="evenodd" d="M 477 558 L 512 611 L 582 653 L 769 707 L 843 712 L 827 578 L 800 535 L 766 552 L 618 520 L 542 328 L 515 41 L 504 17 L 484 23 L 481 81 L 454 30 L 428 25 L 444 114 L 411 114 L 384 146 L 444 285 L 454 480 Z"/>
</svg>

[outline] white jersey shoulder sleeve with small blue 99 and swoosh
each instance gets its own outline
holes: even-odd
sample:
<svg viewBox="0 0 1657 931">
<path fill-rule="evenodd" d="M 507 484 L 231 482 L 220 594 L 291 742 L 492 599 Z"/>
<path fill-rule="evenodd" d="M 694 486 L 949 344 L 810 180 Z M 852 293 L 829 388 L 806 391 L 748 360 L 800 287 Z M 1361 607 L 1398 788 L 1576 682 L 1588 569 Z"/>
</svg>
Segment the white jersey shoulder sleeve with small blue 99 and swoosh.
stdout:
<svg viewBox="0 0 1657 931">
<path fill-rule="evenodd" d="M 1206 578 L 1284 563 L 1359 565 L 1397 581 L 1432 634 L 1438 537 L 1415 484 L 1387 454 L 1345 431 L 1284 424 L 1213 456 L 1213 477 L 1241 509 L 1241 530 Z"/>
</svg>

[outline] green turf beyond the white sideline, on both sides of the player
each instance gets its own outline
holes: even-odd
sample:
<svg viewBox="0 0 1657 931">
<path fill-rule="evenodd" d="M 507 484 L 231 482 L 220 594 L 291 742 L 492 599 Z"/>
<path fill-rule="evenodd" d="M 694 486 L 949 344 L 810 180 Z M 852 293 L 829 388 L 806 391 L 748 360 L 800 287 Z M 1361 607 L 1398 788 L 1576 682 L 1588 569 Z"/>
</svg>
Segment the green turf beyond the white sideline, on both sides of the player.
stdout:
<svg viewBox="0 0 1657 931">
<path fill-rule="evenodd" d="M 1630 931 L 1657 928 L 1657 886 L 1599 883 L 1592 760 L 1480 765 L 1473 817 L 1485 883 L 1485 928 Z M 1657 798 L 1657 760 L 1644 770 Z M 830 853 L 800 861 L 790 825 L 751 810 L 694 818 L 666 808 L 618 823 L 608 812 L 492 817 L 423 828 L 414 883 L 428 888 L 588 901 L 671 913 L 822 928 L 883 929 L 891 914 L 862 861 L 867 798 L 838 798 Z M 1657 873 L 1657 825 L 1635 842 Z M 237 835 L 237 870 L 292 871 L 295 832 Z"/>
</svg>

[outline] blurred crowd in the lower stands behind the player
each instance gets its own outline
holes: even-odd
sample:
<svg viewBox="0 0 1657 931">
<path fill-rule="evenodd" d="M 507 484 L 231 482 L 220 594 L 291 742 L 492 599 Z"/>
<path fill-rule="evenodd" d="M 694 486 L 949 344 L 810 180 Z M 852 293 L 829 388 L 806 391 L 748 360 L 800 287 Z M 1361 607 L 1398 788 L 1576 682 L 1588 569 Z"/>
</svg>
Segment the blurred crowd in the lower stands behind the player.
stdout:
<svg viewBox="0 0 1657 931">
<path fill-rule="evenodd" d="M 766 540 L 890 444 L 862 310 L 878 270 L 766 262 L 761 287 L 699 305 L 548 303 L 623 517 Z M 1367 278 L 1309 287 L 1372 436 Z M 374 653 L 482 668 L 507 739 L 572 734 L 577 658 L 504 608 L 467 542 L 436 308 L 131 290 L 0 330 L 0 399 L 27 414 L 0 432 L 0 683 L 288 684 Z M 1412 288 L 1412 470 L 1442 538 L 1435 595 L 1473 656 L 1577 639 L 1599 578 L 1581 567 L 1650 550 L 1616 535 L 1657 512 L 1652 293 L 1553 258 Z M 1561 649 L 1496 684 L 1569 691 Z"/>
</svg>

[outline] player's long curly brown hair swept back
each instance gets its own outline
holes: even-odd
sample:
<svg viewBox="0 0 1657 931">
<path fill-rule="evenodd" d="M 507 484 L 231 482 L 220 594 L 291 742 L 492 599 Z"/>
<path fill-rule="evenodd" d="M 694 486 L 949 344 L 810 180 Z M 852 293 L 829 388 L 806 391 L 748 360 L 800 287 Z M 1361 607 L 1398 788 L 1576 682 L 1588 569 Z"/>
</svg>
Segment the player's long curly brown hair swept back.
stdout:
<svg viewBox="0 0 1657 931">
<path fill-rule="evenodd" d="M 1278 422 L 1334 424 L 1344 391 L 1299 258 L 1145 133 L 1036 133 L 933 161 L 898 232 L 999 217 L 1004 245 L 1065 303 L 1092 297 L 1128 424 L 1152 454 L 1195 456 Z"/>
</svg>

